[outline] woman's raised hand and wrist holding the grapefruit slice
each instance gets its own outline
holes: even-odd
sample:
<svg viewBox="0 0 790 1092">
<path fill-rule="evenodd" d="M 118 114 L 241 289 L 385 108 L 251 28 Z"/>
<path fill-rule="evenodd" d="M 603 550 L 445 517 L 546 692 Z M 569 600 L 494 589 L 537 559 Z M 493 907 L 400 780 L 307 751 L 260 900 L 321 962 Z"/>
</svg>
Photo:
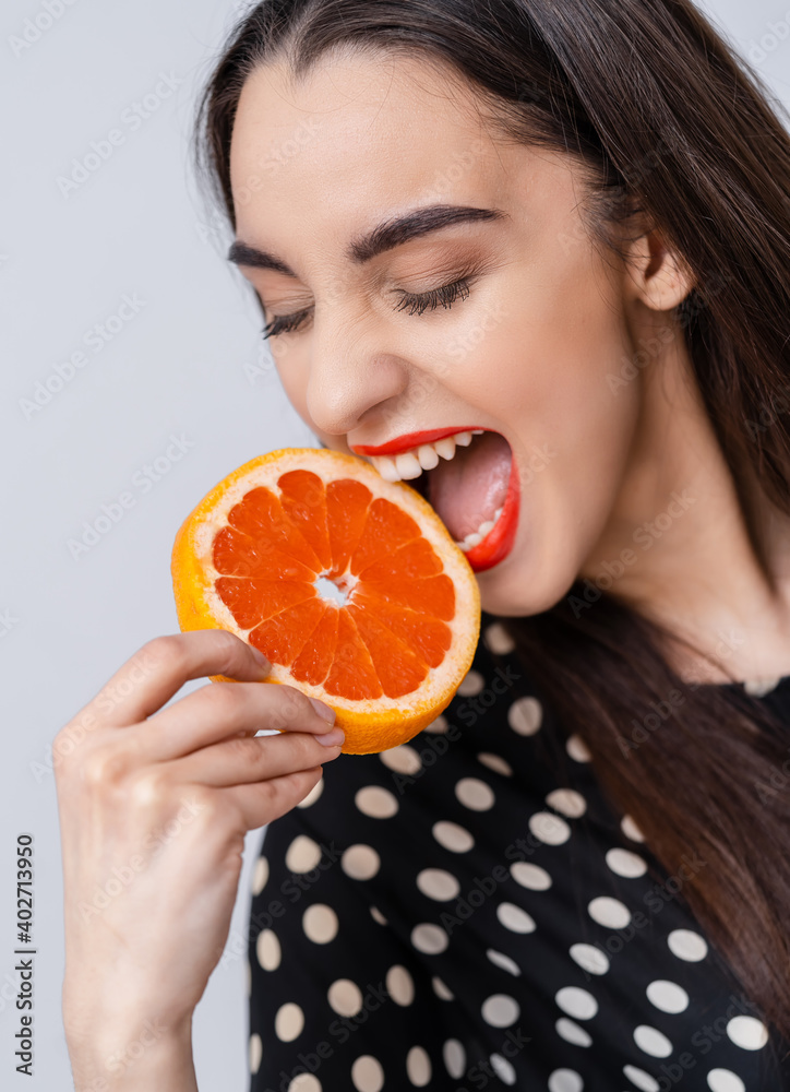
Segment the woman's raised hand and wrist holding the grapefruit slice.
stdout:
<svg viewBox="0 0 790 1092">
<path fill-rule="evenodd" d="M 155 638 L 56 737 L 77 1092 L 195 1088 L 192 1012 L 227 939 L 244 833 L 295 807 L 340 753 L 339 729 L 333 746 L 318 738 L 334 712 L 255 682 L 268 667 L 255 655 L 226 630 Z M 241 681 L 161 709 L 206 675 Z M 286 731 L 254 736 L 266 728 Z"/>
</svg>

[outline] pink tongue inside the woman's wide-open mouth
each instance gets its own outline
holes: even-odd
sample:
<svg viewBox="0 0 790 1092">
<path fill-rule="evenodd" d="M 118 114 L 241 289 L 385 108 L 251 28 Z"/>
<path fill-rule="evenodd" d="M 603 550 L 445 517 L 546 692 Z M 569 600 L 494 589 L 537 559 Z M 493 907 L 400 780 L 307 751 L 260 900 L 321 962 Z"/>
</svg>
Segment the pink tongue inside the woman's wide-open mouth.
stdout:
<svg viewBox="0 0 790 1092">
<path fill-rule="evenodd" d="M 453 538 L 463 542 L 504 505 L 511 446 L 499 432 L 483 432 L 427 473 L 430 505 Z"/>
</svg>

